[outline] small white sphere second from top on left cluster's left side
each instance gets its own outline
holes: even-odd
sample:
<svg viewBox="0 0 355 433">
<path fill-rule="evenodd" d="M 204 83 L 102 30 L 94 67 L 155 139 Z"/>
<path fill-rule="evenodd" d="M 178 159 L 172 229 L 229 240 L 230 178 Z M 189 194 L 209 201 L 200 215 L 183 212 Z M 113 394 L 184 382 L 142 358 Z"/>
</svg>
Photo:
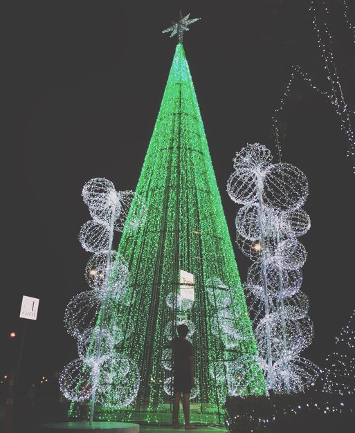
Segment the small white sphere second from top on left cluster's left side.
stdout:
<svg viewBox="0 0 355 433">
<path fill-rule="evenodd" d="M 107 252 L 110 230 L 104 223 L 88 221 L 79 234 L 82 248 L 89 252 Z"/>
</svg>

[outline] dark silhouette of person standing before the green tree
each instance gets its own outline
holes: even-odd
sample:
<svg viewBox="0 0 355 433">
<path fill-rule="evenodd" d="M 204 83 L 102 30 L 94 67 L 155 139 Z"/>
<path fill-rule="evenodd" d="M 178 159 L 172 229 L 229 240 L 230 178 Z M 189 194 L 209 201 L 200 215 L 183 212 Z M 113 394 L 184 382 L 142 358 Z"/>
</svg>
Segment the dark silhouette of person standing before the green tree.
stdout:
<svg viewBox="0 0 355 433">
<path fill-rule="evenodd" d="M 190 341 L 186 340 L 189 331 L 188 326 L 181 324 L 177 327 L 177 331 L 179 337 L 172 339 L 172 369 L 174 374 L 172 424 L 174 428 L 179 428 L 180 397 L 183 394 L 185 430 L 194 430 L 196 426 L 190 424 L 190 392 L 194 387 L 194 348 Z"/>
</svg>

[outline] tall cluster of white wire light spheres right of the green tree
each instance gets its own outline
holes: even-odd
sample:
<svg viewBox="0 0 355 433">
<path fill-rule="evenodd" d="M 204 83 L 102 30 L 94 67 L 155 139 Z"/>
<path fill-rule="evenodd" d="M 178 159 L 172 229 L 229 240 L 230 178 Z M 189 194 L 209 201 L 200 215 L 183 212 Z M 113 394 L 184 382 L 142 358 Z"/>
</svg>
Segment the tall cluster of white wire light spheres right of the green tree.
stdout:
<svg viewBox="0 0 355 433">
<path fill-rule="evenodd" d="M 256 325 L 257 364 L 268 389 L 280 394 L 303 391 L 319 374 L 313 362 L 299 356 L 313 338 L 309 303 L 300 292 L 300 268 L 307 252 L 297 239 L 311 226 L 301 209 L 309 194 L 307 178 L 291 164 L 272 164 L 271 152 L 257 143 L 244 147 L 233 162 L 235 172 L 227 190 L 243 205 L 235 220 L 237 244 L 254 261 L 244 290 Z M 246 383 L 237 371 L 241 363 L 255 368 L 253 361 L 237 360 L 228 366 L 230 394 L 250 389 L 250 380 Z"/>
</svg>

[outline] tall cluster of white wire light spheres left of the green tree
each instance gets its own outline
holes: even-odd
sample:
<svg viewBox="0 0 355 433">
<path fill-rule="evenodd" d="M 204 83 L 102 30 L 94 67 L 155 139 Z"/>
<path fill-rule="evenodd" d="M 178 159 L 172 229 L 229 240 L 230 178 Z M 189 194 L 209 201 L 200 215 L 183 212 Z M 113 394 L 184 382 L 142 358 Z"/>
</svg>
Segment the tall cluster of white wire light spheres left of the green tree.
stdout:
<svg viewBox="0 0 355 433">
<path fill-rule="evenodd" d="M 93 252 L 85 268 L 91 288 L 75 295 L 66 307 L 64 324 L 78 340 L 79 358 L 69 362 L 60 374 L 60 389 L 69 400 L 93 398 L 101 405 L 125 407 L 138 393 L 140 376 L 136 364 L 113 349 L 129 329 L 112 324 L 111 311 L 122 302 L 129 284 L 125 258 L 112 251 L 113 232 L 136 230 L 145 221 L 145 203 L 134 192 L 116 192 L 112 182 L 94 178 L 82 190 L 92 217 L 80 230 L 82 247 Z M 131 202 L 136 214 L 128 227 L 125 221 Z M 109 323 L 108 323 L 109 321 Z"/>
</svg>

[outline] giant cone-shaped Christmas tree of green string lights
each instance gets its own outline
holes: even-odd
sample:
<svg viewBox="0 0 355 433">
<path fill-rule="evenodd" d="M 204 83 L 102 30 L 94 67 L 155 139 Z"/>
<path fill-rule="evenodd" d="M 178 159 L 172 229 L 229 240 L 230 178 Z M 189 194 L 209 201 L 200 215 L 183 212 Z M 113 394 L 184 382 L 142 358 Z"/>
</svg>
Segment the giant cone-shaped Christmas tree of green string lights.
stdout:
<svg viewBox="0 0 355 433">
<path fill-rule="evenodd" d="M 170 410 L 169 343 L 181 322 L 190 327 L 188 338 L 194 345 L 192 397 L 196 395 L 193 402 L 199 413 L 220 414 L 227 394 L 265 394 L 181 43 L 176 46 L 136 194 L 145 200 L 147 216 L 132 230 L 140 206 L 134 199 L 118 248 L 129 265 L 130 288 L 118 305 L 119 320 L 111 318 L 124 334 L 119 351 L 140 369 L 140 389 L 131 409 L 146 414 Z M 181 299 L 181 270 L 194 275 L 194 301 Z"/>
</svg>

